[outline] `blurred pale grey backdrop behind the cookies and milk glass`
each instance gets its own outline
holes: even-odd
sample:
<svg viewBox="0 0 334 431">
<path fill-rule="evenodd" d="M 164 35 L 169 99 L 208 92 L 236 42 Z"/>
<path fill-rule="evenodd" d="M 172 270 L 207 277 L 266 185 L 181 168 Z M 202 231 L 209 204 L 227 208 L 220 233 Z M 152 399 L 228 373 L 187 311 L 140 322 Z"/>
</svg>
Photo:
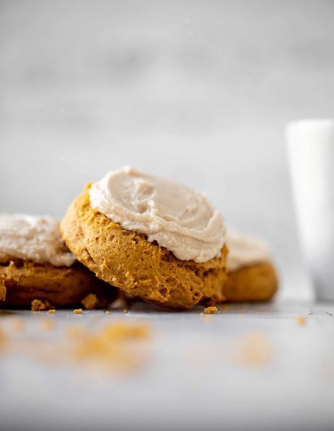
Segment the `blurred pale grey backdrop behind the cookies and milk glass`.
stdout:
<svg viewBox="0 0 334 431">
<path fill-rule="evenodd" d="M 1 1 L 0 211 L 122 165 L 206 191 L 303 279 L 285 123 L 331 117 L 334 1 Z"/>
</svg>

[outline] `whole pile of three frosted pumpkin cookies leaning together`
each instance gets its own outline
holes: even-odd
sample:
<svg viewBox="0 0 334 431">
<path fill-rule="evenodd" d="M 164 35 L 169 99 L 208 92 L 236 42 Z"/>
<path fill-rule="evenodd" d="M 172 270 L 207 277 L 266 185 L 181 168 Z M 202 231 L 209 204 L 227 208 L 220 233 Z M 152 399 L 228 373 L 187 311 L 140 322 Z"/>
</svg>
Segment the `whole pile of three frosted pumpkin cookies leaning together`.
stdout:
<svg viewBox="0 0 334 431">
<path fill-rule="evenodd" d="M 203 194 L 124 167 L 88 184 L 60 230 L 0 215 L 0 307 L 106 307 L 118 291 L 172 309 L 268 300 L 278 281 L 264 249 L 227 231 Z"/>
</svg>

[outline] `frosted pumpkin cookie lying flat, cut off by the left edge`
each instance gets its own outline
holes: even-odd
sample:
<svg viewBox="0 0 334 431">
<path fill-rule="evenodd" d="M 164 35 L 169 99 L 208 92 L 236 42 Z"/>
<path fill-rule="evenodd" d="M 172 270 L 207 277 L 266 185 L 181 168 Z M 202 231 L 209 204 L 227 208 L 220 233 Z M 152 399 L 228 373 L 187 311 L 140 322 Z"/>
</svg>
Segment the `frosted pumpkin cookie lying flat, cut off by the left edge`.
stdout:
<svg viewBox="0 0 334 431">
<path fill-rule="evenodd" d="M 76 261 L 56 220 L 0 214 L 0 307 L 30 308 L 34 300 L 48 308 L 74 307 L 90 293 L 100 306 L 116 296 L 115 289 Z"/>
</svg>

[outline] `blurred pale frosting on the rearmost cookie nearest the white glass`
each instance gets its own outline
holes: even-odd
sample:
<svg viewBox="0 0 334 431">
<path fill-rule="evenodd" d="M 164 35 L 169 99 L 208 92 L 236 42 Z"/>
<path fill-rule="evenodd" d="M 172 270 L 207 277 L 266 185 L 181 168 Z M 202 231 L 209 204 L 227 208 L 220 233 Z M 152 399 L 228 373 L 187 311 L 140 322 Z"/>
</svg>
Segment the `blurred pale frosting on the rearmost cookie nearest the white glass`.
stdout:
<svg viewBox="0 0 334 431">
<path fill-rule="evenodd" d="M 251 235 L 243 235 L 237 230 L 227 228 L 227 269 L 237 271 L 242 266 L 270 262 L 270 249 L 266 242 Z"/>
</svg>

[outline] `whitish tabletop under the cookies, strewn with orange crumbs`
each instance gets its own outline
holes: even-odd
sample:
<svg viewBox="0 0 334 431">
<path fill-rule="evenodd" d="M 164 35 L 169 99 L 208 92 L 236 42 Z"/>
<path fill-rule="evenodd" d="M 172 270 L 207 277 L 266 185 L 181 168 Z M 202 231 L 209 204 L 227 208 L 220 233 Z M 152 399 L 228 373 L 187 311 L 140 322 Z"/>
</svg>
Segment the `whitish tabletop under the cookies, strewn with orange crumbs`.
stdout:
<svg viewBox="0 0 334 431">
<path fill-rule="evenodd" d="M 3 352 L 0 429 L 334 429 L 334 304 L 233 305 L 209 319 L 201 311 L 165 312 L 138 303 L 128 314 L 0 312 L 9 338 L 19 346 L 30 340 L 35 350 L 47 339 L 59 341 L 73 323 L 90 331 L 139 321 L 152 329 L 143 367 L 121 376 L 43 363 L 20 349 Z M 298 316 L 306 317 L 304 325 Z M 49 318 L 54 328 L 41 330 Z M 18 319 L 23 329 L 15 331 Z M 236 352 L 254 334 L 269 357 L 240 362 Z"/>
</svg>

